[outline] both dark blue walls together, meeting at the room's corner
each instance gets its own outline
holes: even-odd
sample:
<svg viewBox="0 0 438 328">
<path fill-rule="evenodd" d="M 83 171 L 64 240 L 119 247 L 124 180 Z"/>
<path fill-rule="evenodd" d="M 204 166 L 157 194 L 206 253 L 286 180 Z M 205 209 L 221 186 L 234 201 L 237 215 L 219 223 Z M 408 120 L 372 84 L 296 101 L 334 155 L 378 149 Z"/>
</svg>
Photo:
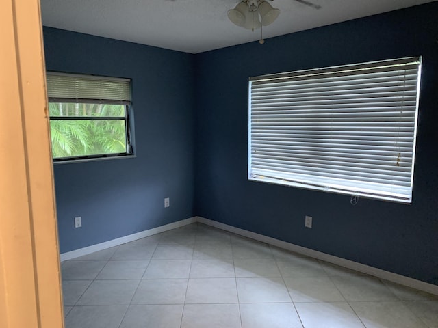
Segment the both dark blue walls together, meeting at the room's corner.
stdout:
<svg viewBox="0 0 438 328">
<path fill-rule="evenodd" d="M 437 16 L 435 2 L 198 55 L 44 27 L 48 70 L 133 79 L 137 158 L 55 165 L 61 252 L 201 215 L 438 284 Z M 247 180 L 248 77 L 414 55 L 411 205 Z"/>
</svg>

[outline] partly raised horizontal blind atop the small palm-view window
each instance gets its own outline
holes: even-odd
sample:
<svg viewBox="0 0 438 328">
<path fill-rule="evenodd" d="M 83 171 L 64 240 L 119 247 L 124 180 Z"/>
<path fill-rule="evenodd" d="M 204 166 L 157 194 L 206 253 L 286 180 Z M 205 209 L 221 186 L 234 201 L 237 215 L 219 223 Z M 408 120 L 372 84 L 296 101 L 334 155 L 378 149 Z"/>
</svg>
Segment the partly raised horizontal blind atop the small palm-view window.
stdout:
<svg viewBox="0 0 438 328">
<path fill-rule="evenodd" d="M 47 72 L 47 95 L 52 101 L 97 100 L 131 102 L 131 81 L 110 77 Z"/>
</svg>

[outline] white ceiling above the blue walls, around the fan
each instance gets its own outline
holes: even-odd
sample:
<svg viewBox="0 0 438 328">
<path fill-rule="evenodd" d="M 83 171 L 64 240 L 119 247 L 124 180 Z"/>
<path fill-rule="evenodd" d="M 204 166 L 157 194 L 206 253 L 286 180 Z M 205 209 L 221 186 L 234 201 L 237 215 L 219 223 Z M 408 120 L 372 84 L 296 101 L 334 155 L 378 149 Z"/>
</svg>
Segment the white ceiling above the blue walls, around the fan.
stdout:
<svg viewBox="0 0 438 328">
<path fill-rule="evenodd" d="M 435 0 L 308 0 L 321 9 L 294 0 L 270 2 L 279 18 L 263 27 L 263 38 L 389 12 Z M 42 24 L 69 31 L 125 40 L 165 49 L 201 53 L 257 41 L 233 25 L 227 11 L 239 0 L 41 0 Z"/>
</svg>

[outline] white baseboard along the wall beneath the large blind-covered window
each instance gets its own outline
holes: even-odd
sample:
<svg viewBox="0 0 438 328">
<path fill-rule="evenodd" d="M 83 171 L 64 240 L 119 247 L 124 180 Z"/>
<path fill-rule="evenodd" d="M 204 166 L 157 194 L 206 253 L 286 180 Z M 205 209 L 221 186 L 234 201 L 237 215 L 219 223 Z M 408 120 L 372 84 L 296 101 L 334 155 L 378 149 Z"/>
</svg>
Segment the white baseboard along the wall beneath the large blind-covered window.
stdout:
<svg viewBox="0 0 438 328">
<path fill-rule="evenodd" d="M 276 247 L 281 247 L 281 248 L 287 249 L 289 251 L 294 251 L 298 254 L 310 256 L 311 258 L 316 258 L 318 260 L 337 264 L 337 265 L 344 267 L 344 268 L 347 268 L 347 269 L 352 269 L 355 271 L 359 271 L 361 273 L 373 275 L 374 277 L 389 280 L 390 282 L 395 282 L 396 284 L 415 288 L 417 290 L 422 290 L 424 292 L 429 292 L 430 294 L 438 295 L 438 286 L 434 285 L 434 284 L 428 284 L 427 282 L 422 282 L 422 281 L 417 280 L 417 279 L 405 277 L 404 275 L 398 275 L 397 273 L 392 273 L 392 272 L 385 271 L 382 269 L 370 267 L 368 265 L 361 264 L 358 262 L 346 260 L 344 258 L 338 258 L 337 256 L 325 254 L 325 253 L 322 253 L 321 251 L 315 251 L 313 249 L 294 245 L 291 243 L 287 243 L 285 241 L 280 241 L 279 239 L 271 238 L 268 236 L 263 236 L 262 234 L 256 234 L 255 232 L 250 232 L 248 230 L 235 228 L 233 226 L 229 226 L 229 225 L 224 224 L 224 223 L 205 219 L 204 217 L 195 217 L 195 219 L 196 219 L 196 222 L 204 223 L 204 224 L 207 224 L 208 226 L 212 226 L 215 228 L 219 228 L 222 230 L 233 232 L 234 234 L 240 234 L 241 236 L 252 238 L 252 239 L 255 239 L 256 241 L 261 241 L 263 243 L 267 243 L 267 244 L 270 244 L 270 245 L 273 245 Z"/>
</svg>

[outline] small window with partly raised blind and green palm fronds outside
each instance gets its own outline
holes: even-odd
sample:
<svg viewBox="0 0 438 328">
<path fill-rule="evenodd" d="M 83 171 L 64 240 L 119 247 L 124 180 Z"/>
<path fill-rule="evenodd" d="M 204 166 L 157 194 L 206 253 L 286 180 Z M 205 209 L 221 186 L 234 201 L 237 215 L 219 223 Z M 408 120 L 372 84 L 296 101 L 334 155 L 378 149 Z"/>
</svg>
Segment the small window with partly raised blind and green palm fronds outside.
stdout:
<svg viewBox="0 0 438 328">
<path fill-rule="evenodd" d="M 131 81 L 47 72 L 53 161 L 127 156 Z"/>
</svg>

